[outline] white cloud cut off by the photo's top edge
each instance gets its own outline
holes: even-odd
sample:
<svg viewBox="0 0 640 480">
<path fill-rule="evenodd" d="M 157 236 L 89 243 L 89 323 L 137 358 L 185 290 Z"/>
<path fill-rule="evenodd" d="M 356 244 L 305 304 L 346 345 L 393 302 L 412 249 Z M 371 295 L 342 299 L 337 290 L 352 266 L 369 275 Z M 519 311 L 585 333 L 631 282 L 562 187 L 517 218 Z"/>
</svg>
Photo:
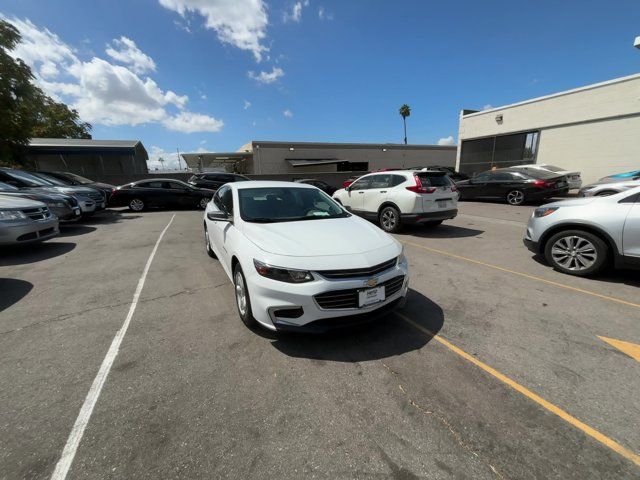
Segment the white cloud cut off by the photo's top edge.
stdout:
<svg viewBox="0 0 640 480">
<path fill-rule="evenodd" d="M 263 0 L 159 0 L 160 5 L 183 18 L 188 13 L 204 17 L 205 27 L 218 39 L 253 53 L 256 61 L 269 49 L 263 45 L 269 18 Z"/>
</svg>

